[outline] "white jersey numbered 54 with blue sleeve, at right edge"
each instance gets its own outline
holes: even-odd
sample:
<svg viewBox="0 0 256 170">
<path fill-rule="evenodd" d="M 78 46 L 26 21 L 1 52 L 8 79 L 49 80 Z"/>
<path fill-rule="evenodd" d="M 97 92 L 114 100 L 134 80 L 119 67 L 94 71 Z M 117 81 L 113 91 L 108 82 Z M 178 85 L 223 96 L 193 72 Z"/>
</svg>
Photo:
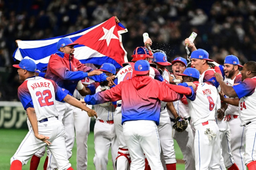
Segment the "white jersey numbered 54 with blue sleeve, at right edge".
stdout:
<svg viewBox="0 0 256 170">
<path fill-rule="evenodd" d="M 239 113 L 241 126 L 243 126 L 256 118 L 256 76 L 253 78 L 246 78 L 242 83 L 233 86 L 233 88 L 240 99 Z"/>
</svg>

